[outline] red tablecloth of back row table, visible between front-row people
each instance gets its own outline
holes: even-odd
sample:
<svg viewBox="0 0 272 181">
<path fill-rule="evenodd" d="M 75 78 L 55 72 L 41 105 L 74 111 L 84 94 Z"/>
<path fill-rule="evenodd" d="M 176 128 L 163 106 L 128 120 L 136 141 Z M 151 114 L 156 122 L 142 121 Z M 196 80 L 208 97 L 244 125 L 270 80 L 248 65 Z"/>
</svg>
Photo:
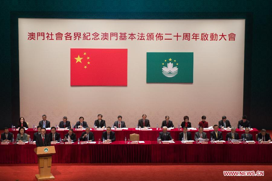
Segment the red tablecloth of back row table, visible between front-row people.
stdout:
<svg viewBox="0 0 272 181">
<path fill-rule="evenodd" d="M 74 133 L 76 133 L 76 138 L 79 138 L 81 136 L 81 133 L 84 132 L 83 131 L 78 131 L 78 130 L 74 130 Z M 94 137 L 95 137 L 95 141 L 98 141 L 98 139 L 101 139 L 102 136 L 102 132 L 105 131 L 97 131 L 97 130 L 91 130 L 92 133 L 94 133 Z M 129 135 L 136 133 L 140 135 L 140 140 L 149 140 L 149 141 L 156 141 L 157 137 L 159 136 L 159 132 L 161 132 L 162 130 L 158 129 L 156 130 L 156 128 L 152 128 L 152 130 L 135 130 L 135 128 L 128 128 L 128 130 L 113 130 L 115 132 L 115 137 L 116 137 L 116 141 L 123 141 L 125 140 L 125 137 L 127 137 L 127 139 L 129 139 Z M 191 132 L 192 134 L 192 140 L 194 140 L 194 135 L 198 130 L 190 130 L 189 132 Z M 16 139 L 17 134 L 19 133 L 18 131 L 13 131 L 11 129 L 9 129 L 9 132 L 14 134 L 14 138 Z M 34 133 L 37 131 L 34 131 L 32 128 L 28 128 L 28 130 L 25 131 L 25 133 L 29 134 L 30 137 L 33 139 L 33 135 Z M 178 130 L 177 128 L 170 130 L 169 131 L 171 133 L 171 136 L 173 137 L 174 140 L 178 140 L 179 139 L 179 134 L 180 132 L 182 132 L 182 130 Z M 204 131 L 205 133 L 207 133 L 207 137 L 210 138 L 210 132 L 212 131 Z M 230 131 L 222 131 L 223 133 L 223 140 L 226 139 L 226 135 L 227 133 L 229 133 Z M 49 134 L 50 130 L 46 130 L 46 133 Z M 57 130 L 57 133 L 60 133 L 60 137 L 63 138 L 64 135 L 66 133 L 68 133 L 68 130 L 64 130 L 64 131 L 59 131 Z M 236 133 L 239 134 L 239 137 L 241 137 L 241 134 L 244 133 L 244 131 L 240 131 L 239 129 L 236 129 Z M 253 130 L 251 130 L 249 132 L 250 134 L 253 135 L 253 140 L 256 141 L 256 137 L 255 135 L 258 133 L 258 130 L 256 128 L 253 128 Z"/>
</svg>

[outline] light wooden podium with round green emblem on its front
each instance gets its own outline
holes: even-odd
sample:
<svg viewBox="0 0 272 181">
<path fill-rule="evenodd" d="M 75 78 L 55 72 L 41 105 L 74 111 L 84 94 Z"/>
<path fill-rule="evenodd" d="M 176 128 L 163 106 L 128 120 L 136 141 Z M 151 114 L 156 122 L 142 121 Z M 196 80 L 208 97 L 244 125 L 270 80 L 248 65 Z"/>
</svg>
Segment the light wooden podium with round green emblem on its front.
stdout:
<svg viewBox="0 0 272 181">
<path fill-rule="evenodd" d="M 40 146 L 34 149 L 38 156 L 39 174 L 38 180 L 52 180 L 55 177 L 51 173 L 52 155 L 56 153 L 55 146 Z"/>
</svg>

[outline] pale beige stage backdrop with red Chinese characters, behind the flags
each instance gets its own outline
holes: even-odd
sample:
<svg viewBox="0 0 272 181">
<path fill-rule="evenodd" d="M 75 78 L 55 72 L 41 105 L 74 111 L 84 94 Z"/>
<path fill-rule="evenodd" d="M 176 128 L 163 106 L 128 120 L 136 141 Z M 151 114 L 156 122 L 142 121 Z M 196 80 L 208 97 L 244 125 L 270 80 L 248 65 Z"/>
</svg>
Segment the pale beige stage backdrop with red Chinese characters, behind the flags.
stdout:
<svg viewBox="0 0 272 181">
<path fill-rule="evenodd" d="M 234 126 L 241 120 L 244 20 L 20 18 L 18 23 L 20 114 L 31 125 L 43 114 L 51 126 L 63 116 L 71 124 L 83 116 L 92 127 L 97 114 L 107 126 L 121 115 L 127 127 L 135 127 L 142 114 L 151 127 L 166 115 L 176 127 L 185 115 L 193 127 L 202 115 L 209 125 L 223 115 Z M 128 49 L 127 86 L 70 86 L 71 48 Z M 193 83 L 146 83 L 147 52 L 193 52 Z"/>
</svg>

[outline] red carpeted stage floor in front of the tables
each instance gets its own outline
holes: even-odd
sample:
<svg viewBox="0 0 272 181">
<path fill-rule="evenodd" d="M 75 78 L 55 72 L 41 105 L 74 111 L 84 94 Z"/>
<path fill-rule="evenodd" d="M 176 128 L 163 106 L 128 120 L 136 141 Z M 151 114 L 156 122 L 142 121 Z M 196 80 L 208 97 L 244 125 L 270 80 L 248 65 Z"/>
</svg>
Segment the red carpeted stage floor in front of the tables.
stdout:
<svg viewBox="0 0 272 181">
<path fill-rule="evenodd" d="M 1 181 L 36 181 L 36 164 L 0 165 Z M 223 176 L 223 171 L 264 171 L 264 176 Z M 272 180 L 271 164 L 53 164 L 55 180 Z"/>
</svg>

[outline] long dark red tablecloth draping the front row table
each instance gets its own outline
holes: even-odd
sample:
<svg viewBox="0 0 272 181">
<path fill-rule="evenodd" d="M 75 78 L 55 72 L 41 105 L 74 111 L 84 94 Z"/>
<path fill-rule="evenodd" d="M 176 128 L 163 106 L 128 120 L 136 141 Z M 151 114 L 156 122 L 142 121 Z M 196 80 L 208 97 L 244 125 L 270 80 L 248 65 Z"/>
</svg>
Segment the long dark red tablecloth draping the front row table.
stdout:
<svg viewBox="0 0 272 181">
<path fill-rule="evenodd" d="M 52 163 L 272 163 L 271 144 L 56 144 Z M 37 163 L 36 145 L 0 145 L 0 163 Z"/>
</svg>

